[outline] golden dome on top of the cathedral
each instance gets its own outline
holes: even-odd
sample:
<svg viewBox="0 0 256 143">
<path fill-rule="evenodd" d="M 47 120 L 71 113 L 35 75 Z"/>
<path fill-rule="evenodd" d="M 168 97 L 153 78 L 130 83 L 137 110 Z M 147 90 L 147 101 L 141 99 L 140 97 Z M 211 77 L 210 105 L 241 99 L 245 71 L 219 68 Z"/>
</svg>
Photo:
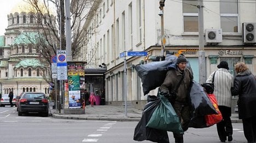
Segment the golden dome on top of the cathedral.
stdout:
<svg viewBox="0 0 256 143">
<path fill-rule="evenodd" d="M 32 6 L 30 1 L 31 0 L 20 0 L 20 2 L 17 3 L 13 7 L 13 9 L 11 9 L 10 13 L 11 14 L 14 14 L 14 13 L 19 13 L 20 14 L 22 12 L 36 13 L 37 10 Z M 48 13 L 43 3 L 38 2 L 38 7 L 42 11 L 43 14 Z M 53 15 L 53 12 L 51 11 L 51 9 L 49 9 L 49 13 L 50 13 L 50 15 Z"/>
</svg>

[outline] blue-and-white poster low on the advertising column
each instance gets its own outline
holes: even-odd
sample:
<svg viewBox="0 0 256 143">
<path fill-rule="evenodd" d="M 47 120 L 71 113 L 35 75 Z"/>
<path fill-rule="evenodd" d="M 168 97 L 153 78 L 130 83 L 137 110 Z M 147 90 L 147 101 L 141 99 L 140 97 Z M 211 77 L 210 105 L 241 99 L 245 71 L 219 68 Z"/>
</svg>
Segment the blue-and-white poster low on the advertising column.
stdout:
<svg viewBox="0 0 256 143">
<path fill-rule="evenodd" d="M 80 108 L 80 90 L 68 91 L 68 97 L 69 108 Z"/>
</svg>

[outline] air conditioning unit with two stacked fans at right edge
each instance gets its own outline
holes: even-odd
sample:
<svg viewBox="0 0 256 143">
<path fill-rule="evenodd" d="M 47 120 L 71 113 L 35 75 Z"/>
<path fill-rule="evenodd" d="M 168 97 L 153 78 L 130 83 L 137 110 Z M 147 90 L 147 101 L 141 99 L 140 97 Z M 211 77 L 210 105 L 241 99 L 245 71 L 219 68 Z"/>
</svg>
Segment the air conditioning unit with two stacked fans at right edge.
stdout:
<svg viewBox="0 0 256 143">
<path fill-rule="evenodd" d="M 243 23 L 243 43 L 256 43 L 256 23 Z"/>
</svg>

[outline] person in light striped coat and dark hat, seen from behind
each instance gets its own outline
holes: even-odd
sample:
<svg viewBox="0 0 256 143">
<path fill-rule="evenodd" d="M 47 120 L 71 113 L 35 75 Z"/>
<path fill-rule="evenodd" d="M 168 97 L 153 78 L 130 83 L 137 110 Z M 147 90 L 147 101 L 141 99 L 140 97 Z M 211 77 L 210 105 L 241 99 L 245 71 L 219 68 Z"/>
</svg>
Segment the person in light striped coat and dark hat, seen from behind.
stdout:
<svg viewBox="0 0 256 143">
<path fill-rule="evenodd" d="M 206 83 L 212 83 L 214 80 L 213 94 L 216 96 L 218 108 L 223 117 L 222 121 L 217 123 L 219 140 L 225 142 L 228 136 L 228 141 L 232 141 L 233 127 L 230 116 L 232 100 L 231 88 L 233 87 L 234 77 L 229 73 L 229 65 L 226 61 L 220 61 L 217 67 L 218 70 L 210 75 Z"/>
</svg>

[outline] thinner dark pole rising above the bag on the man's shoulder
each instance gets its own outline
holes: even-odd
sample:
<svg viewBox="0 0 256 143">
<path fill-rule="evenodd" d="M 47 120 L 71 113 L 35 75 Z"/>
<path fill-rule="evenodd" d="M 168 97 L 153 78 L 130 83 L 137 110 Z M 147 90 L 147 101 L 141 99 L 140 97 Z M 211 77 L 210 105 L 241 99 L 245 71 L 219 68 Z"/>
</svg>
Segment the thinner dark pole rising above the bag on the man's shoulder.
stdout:
<svg viewBox="0 0 256 143">
<path fill-rule="evenodd" d="M 161 16 L 161 60 L 164 60 L 164 52 L 165 52 L 165 37 L 164 37 L 164 7 L 165 7 L 165 0 L 159 0 L 159 13 L 158 15 Z"/>
</svg>

